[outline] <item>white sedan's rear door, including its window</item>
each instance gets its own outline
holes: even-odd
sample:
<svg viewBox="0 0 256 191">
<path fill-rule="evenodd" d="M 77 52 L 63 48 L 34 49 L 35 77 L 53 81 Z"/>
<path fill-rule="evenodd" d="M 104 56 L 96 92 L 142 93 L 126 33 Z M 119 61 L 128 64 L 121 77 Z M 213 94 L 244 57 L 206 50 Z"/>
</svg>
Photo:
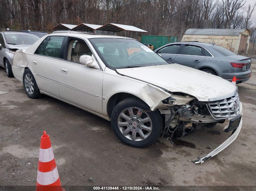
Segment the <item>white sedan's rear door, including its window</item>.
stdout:
<svg viewBox="0 0 256 191">
<path fill-rule="evenodd" d="M 29 56 L 28 62 L 38 88 L 45 94 L 60 98 L 58 80 L 62 65 L 64 36 L 50 36 L 45 38 L 35 53 Z"/>
</svg>

